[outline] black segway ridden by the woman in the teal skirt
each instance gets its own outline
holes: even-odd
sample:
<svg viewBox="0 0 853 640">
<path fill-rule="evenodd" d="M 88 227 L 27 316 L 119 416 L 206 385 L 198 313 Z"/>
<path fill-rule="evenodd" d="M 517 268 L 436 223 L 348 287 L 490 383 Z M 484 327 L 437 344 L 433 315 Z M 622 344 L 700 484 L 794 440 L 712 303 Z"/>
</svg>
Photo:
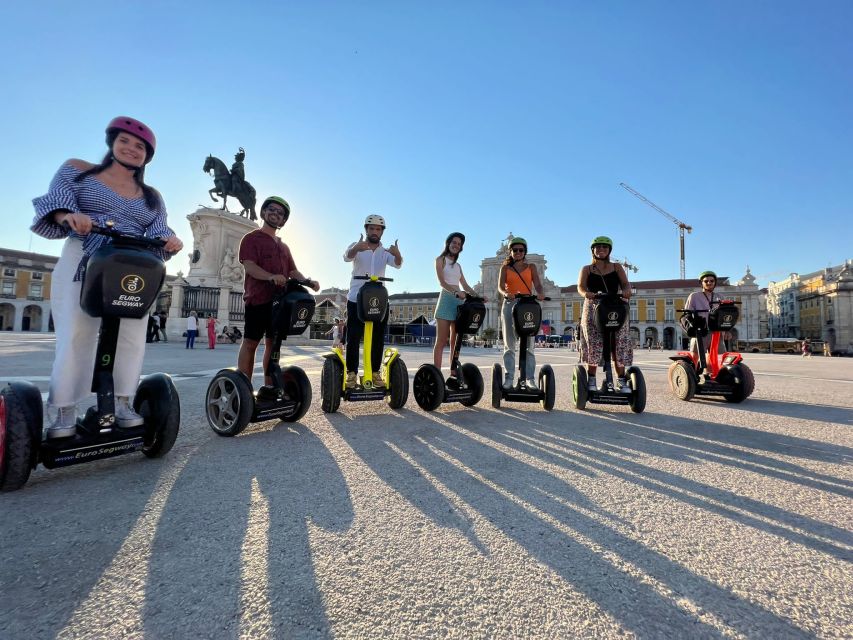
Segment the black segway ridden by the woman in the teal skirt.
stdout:
<svg viewBox="0 0 853 640">
<path fill-rule="evenodd" d="M 459 402 L 472 407 L 483 397 L 483 376 L 477 365 L 459 362 L 462 338 L 476 334 L 486 317 L 483 298 L 466 294 L 465 302 L 456 309 L 456 339 L 450 354 L 450 369 L 457 377 L 447 380 L 441 370 L 432 364 L 422 364 L 415 373 L 412 391 L 415 401 L 424 411 L 433 411 L 443 402 Z"/>
</svg>

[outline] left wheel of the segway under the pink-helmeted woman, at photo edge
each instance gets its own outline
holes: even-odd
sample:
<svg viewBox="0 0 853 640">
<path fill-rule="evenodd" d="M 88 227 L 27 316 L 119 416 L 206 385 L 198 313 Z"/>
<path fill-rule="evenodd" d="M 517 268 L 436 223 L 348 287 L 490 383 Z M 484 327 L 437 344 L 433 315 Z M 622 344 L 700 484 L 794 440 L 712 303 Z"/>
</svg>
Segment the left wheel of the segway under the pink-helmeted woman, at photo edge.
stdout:
<svg viewBox="0 0 853 640">
<path fill-rule="evenodd" d="M 39 441 L 33 433 L 41 434 L 42 424 L 39 420 L 38 425 L 32 425 L 37 429 L 28 424 L 35 416 L 21 393 L 22 384 L 25 383 L 6 385 L 0 390 L 0 491 L 15 491 L 27 483 L 38 451 Z M 38 400 L 40 416 L 41 395 Z"/>
</svg>

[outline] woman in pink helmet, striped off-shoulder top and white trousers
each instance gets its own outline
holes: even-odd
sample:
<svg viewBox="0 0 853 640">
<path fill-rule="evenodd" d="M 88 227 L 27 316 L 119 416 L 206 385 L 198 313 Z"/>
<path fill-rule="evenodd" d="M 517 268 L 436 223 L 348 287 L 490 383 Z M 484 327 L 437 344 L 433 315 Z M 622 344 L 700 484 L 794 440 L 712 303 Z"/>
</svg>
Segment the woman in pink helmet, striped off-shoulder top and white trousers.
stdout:
<svg viewBox="0 0 853 640">
<path fill-rule="evenodd" d="M 56 418 L 48 437 L 75 433 L 77 403 L 90 393 L 100 319 L 80 308 L 80 287 L 89 257 L 105 236 L 90 234 L 92 225 L 108 220 L 118 231 L 166 240 L 160 251 L 168 259 L 183 243 L 166 225 L 160 194 L 145 184 L 145 165 L 154 157 L 153 132 L 133 118 L 120 116 L 107 125 L 109 147 L 100 164 L 68 160 L 56 172 L 48 192 L 33 200 L 34 233 L 49 239 L 65 238 L 62 256 L 53 272 L 51 306 L 56 326 L 56 357 L 50 376 L 48 410 Z M 119 427 L 144 421 L 133 411 L 145 351 L 145 317 L 123 319 L 119 329 L 114 384 Z"/>
</svg>

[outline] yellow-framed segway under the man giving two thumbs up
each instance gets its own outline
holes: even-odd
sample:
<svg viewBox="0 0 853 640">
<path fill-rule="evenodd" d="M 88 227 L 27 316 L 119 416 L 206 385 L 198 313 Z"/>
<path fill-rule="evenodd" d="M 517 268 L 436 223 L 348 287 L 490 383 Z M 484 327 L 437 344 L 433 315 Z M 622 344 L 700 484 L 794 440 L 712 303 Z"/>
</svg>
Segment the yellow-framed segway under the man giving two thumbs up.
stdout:
<svg viewBox="0 0 853 640">
<path fill-rule="evenodd" d="M 353 276 L 355 280 L 367 280 L 358 291 L 356 306 L 358 318 L 364 323 L 364 346 L 362 350 L 362 371 L 359 384 L 354 389 L 346 388 L 347 361 L 340 347 L 333 348 L 323 357 L 323 372 L 320 374 L 320 396 L 325 413 L 335 413 L 341 406 L 341 400 L 347 402 L 369 402 L 387 400 L 392 409 L 399 409 L 409 399 L 409 372 L 400 352 L 386 347 L 382 354 L 382 370 L 385 373 L 385 388 L 373 386 L 373 365 L 370 359 L 373 344 L 373 323 L 381 322 L 388 314 L 388 291 L 383 282 L 393 282 L 392 278 L 379 276 Z M 349 339 L 349 338 L 348 338 Z"/>
</svg>

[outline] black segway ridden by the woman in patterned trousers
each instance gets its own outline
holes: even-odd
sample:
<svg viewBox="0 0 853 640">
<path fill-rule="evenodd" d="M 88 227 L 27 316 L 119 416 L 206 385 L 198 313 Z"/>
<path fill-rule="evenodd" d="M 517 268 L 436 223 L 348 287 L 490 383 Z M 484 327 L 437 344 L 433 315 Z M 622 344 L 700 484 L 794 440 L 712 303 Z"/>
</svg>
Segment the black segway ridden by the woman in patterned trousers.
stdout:
<svg viewBox="0 0 853 640">
<path fill-rule="evenodd" d="M 600 389 L 589 390 L 589 376 L 583 364 L 575 365 L 572 373 L 572 398 L 575 407 L 586 408 L 587 402 L 596 404 L 627 404 L 634 413 L 646 408 L 646 380 L 642 371 L 635 366 L 625 370 L 625 380 L 630 393 L 617 390 L 613 384 L 611 355 L 615 351 L 616 333 L 628 320 L 628 304 L 618 294 L 598 294 L 599 303 L 595 310 L 595 323 L 604 342 L 604 382 Z M 580 352 L 578 352 L 580 353 Z"/>
</svg>

